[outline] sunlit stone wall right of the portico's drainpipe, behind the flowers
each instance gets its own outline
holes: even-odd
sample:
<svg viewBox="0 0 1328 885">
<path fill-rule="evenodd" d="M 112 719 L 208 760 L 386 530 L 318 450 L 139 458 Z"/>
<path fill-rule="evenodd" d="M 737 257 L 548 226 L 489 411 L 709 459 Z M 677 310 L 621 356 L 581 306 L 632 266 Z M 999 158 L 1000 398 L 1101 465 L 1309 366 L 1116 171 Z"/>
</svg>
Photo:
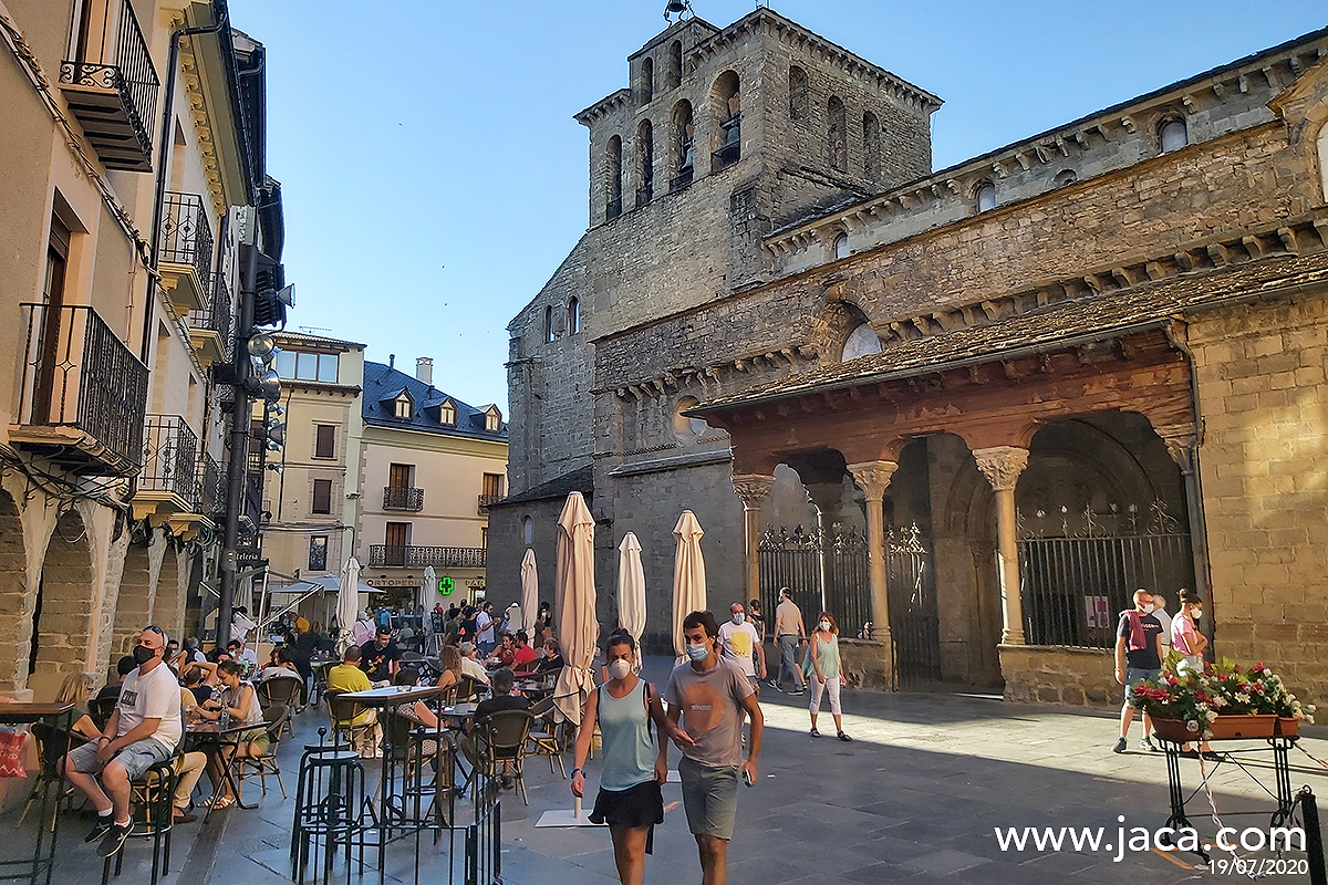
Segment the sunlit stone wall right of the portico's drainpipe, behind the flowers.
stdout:
<svg viewBox="0 0 1328 885">
<path fill-rule="evenodd" d="M 1328 292 L 1189 328 L 1214 650 L 1328 702 Z"/>
</svg>

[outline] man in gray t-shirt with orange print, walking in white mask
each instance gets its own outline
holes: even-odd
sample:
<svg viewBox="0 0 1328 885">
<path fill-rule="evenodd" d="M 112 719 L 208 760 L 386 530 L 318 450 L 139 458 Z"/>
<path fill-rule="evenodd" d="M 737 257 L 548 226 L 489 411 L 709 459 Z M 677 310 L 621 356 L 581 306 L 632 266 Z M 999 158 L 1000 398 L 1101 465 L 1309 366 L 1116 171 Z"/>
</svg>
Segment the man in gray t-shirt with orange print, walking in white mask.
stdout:
<svg viewBox="0 0 1328 885">
<path fill-rule="evenodd" d="M 756 702 L 746 674 L 720 657 L 716 637 L 720 633 L 714 616 L 692 612 L 683 620 L 683 638 L 689 661 L 673 669 L 664 701 L 669 720 L 679 719 L 693 743 L 680 747 L 683 758 L 677 774 L 683 780 L 683 807 L 688 828 L 696 837 L 704 881 L 722 878 L 728 869 L 729 840 L 737 815 L 737 789 L 741 776 L 750 787 L 756 783 L 756 760 L 761 752 L 765 719 Z M 742 716 L 752 719 L 752 746 L 742 759 Z M 661 743 L 660 758 L 667 760 L 668 744 Z"/>
</svg>

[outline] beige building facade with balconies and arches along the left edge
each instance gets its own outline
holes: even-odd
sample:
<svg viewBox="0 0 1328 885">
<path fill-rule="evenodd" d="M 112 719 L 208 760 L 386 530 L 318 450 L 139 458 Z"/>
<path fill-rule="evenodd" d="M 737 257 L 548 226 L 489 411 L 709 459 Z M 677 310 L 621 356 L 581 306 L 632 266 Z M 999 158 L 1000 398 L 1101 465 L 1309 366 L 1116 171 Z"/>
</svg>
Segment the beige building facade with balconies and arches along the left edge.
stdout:
<svg viewBox="0 0 1328 885">
<path fill-rule="evenodd" d="M 224 463 L 208 368 L 280 198 L 264 49 L 223 0 L 20 0 L 0 38 L 0 689 L 44 698 L 146 624 L 197 626 Z"/>
</svg>

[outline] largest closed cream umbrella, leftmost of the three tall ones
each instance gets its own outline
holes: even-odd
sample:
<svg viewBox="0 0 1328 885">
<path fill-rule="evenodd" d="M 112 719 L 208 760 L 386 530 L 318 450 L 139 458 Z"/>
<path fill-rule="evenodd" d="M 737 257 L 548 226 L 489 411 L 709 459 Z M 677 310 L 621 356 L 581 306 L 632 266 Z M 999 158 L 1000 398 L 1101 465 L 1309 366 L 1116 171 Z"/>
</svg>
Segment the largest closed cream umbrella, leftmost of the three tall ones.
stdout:
<svg viewBox="0 0 1328 885">
<path fill-rule="evenodd" d="M 599 622 L 595 620 L 595 520 L 580 492 L 567 496 L 558 517 L 558 641 L 563 646 L 563 666 L 554 687 L 554 702 L 574 724 L 580 724 L 580 707 L 595 689 L 591 662 Z"/>
</svg>

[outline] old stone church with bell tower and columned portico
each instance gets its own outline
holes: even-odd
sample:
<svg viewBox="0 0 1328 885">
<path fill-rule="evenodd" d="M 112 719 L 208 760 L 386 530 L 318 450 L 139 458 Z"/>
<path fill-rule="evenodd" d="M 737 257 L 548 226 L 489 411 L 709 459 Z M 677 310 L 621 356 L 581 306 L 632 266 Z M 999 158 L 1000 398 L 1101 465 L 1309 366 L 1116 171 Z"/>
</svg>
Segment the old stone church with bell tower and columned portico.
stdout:
<svg viewBox="0 0 1328 885">
<path fill-rule="evenodd" d="M 1218 654 L 1328 694 L 1325 54 L 1307 34 L 931 171 L 935 97 L 769 9 L 672 25 L 632 56 L 633 89 L 579 117 L 592 227 L 510 325 L 495 560 L 529 495 L 580 470 L 599 568 L 627 531 L 645 548 L 647 637 L 691 508 L 712 609 L 790 582 L 862 625 L 867 683 L 1105 702 L 1129 593 L 1174 610 L 1191 586 Z M 681 72 L 663 93 L 647 56 Z M 693 141 L 691 180 L 619 204 L 620 143 L 640 157 L 643 115 L 683 96 L 712 121 L 704 169 Z M 515 580 L 490 569 L 495 596 Z"/>
</svg>

